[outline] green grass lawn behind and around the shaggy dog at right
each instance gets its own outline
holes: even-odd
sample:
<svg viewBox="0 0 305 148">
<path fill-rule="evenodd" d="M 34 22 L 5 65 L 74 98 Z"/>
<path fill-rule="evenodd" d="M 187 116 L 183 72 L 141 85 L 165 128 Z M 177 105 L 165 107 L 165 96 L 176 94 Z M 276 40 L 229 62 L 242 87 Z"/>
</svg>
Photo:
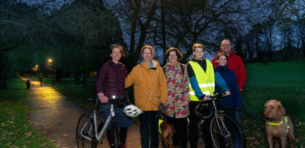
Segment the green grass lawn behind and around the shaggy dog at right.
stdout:
<svg viewBox="0 0 305 148">
<path fill-rule="evenodd" d="M 247 79 L 242 92 L 244 102 L 257 115 L 263 106 L 277 99 L 286 108 L 294 124 L 295 148 L 305 146 L 305 59 L 276 61 L 269 64 L 245 64 Z M 267 148 L 265 123 L 243 106 L 242 126 L 247 147 Z"/>
</svg>

